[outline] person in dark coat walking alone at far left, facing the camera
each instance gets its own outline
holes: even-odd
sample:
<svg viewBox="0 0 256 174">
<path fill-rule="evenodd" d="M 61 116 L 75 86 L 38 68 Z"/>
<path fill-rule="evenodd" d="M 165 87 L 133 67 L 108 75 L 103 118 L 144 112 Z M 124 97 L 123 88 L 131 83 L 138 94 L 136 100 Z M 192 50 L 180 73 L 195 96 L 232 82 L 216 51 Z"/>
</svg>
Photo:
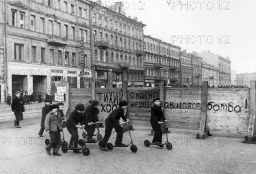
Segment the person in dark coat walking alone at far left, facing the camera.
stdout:
<svg viewBox="0 0 256 174">
<path fill-rule="evenodd" d="M 12 100 L 12 111 L 15 115 L 15 121 L 14 126 L 17 126 L 17 128 L 20 128 L 20 120 L 23 120 L 23 112 L 25 102 L 23 101 L 22 97 L 20 97 L 20 91 L 17 91 L 15 93 L 15 98 Z"/>
</svg>

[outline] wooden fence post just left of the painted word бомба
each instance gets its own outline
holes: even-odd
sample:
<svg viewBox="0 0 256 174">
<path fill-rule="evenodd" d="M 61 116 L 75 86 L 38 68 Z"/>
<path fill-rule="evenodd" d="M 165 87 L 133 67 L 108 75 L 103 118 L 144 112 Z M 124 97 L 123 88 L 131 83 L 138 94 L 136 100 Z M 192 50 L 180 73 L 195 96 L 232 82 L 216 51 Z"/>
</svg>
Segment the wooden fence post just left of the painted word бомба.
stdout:
<svg viewBox="0 0 256 174">
<path fill-rule="evenodd" d="M 208 81 L 203 81 L 202 84 L 202 110 L 199 133 L 196 135 L 197 139 L 206 139 L 207 136 L 211 136 L 209 131 L 206 130 L 206 118 L 207 118 L 207 95 L 208 95 Z"/>
</svg>

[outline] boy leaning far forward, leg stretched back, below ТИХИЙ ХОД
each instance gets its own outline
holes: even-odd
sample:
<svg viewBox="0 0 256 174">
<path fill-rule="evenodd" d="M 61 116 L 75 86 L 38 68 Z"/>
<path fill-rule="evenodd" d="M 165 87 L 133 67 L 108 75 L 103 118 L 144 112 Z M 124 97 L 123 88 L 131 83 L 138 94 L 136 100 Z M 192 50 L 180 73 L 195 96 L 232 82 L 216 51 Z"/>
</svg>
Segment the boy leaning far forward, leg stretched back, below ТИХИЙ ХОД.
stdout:
<svg viewBox="0 0 256 174">
<path fill-rule="evenodd" d="M 125 144 L 122 143 L 122 137 L 123 137 L 123 128 L 119 123 L 120 117 L 125 121 L 130 121 L 129 119 L 126 119 L 126 108 L 128 103 L 125 100 L 122 100 L 119 102 L 119 107 L 116 108 L 112 113 L 110 113 L 105 120 L 106 128 L 105 128 L 105 136 L 102 139 L 102 141 L 99 142 L 99 149 L 102 151 L 108 151 L 106 149 L 106 145 L 108 143 L 108 139 L 111 136 L 112 129 L 115 128 L 116 130 L 116 146 L 125 146 Z"/>
</svg>

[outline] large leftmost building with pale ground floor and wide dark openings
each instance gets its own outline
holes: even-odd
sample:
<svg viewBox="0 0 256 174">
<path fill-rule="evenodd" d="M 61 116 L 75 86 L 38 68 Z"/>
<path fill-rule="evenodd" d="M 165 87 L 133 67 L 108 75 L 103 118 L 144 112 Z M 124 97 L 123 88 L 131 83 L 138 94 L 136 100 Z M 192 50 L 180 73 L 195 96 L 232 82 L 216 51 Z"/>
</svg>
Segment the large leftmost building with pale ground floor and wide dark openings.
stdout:
<svg viewBox="0 0 256 174">
<path fill-rule="evenodd" d="M 41 92 L 44 96 L 51 93 L 54 81 L 80 87 L 82 79 L 81 86 L 88 86 L 86 79 L 92 77 L 91 46 L 80 38 L 90 30 L 90 2 L 34 0 L 26 4 L 7 0 L 7 3 L 1 10 L 4 18 L 1 31 L 7 31 L 2 54 L 7 63 L 5 95 L 14 96 L 20 91 Z"/>
</svg>

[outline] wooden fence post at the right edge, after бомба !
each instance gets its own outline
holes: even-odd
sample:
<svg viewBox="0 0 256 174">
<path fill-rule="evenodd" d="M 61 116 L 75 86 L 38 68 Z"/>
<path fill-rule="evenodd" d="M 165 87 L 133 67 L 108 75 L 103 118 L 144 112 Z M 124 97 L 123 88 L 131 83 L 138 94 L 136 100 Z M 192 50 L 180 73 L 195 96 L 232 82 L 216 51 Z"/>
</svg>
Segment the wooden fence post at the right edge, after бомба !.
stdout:
<svg viewBox="0 0 256 174">
<path fill-rule="evenodd" d="M 255 86 L 256 81 L 250 81 L 250 117 L 247 136 L 244 137 L 243 143 L 256 144 L 256 109 L 255 109 Z"/>
</svg>

